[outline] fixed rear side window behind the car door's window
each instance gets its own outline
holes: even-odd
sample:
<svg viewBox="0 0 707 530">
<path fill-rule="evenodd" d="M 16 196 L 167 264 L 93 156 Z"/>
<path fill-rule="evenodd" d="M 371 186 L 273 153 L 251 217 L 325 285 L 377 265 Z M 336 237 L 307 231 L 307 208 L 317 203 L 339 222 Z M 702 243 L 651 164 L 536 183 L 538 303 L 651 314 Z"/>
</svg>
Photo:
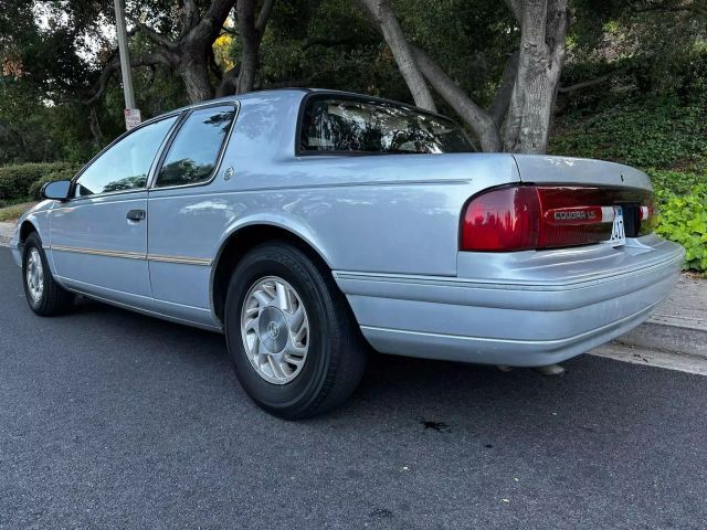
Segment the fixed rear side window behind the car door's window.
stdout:
<svg viewBox="0 0 707 530">
<path fill-rule="evenodd" d="M 209 180 L 234 117 L 233 105 L 193 110 L 177 132 L 155 186 L 163 188 Z"/>
</svg>

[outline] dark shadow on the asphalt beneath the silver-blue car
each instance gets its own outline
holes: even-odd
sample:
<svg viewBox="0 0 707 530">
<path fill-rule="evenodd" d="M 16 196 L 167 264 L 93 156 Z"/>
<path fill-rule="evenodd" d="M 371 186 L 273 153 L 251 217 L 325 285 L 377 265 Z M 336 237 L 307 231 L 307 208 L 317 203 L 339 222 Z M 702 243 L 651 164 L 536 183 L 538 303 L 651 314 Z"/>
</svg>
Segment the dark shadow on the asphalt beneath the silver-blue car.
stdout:
<svg viewBox="0 0 707 530">
<path fill-rule="evenodd" d="M 247 401 L 234 377 L 223 336 L 85 299 L 77 303 L 75 315 L 103 325 L 110 322 L 119 333 L 157 344 L 148 346 L 143 356 L 159 349 L 169 359 L 210 370 L 223 378 L 214 384 L 224 392 L 232 389 L 235 400 Z M 574 432 L 585 441 L 592 433 L 605 434 L 606 428 L 630 432 L 633 425 L 672 406 L 669 392 L 651 384 L 639 385 L 629 396 L 624 392 L 626 378 L 654 369 L 593 356 L 581 356 L 564 365 L 564 375 L 544 377 L 529 369 L 503 372 L 489 365 L 373 352 L 354 395 L 335 411 L 299 422 L 305 426 L 298 428 L 404 425 L 441 439 L 472 436 L 484 446 L 508 436 L 545 439 L 551 445 L 558 434 Z M 265 414 L 250 402 L 249 406 L 252 414 Z M 270 416 L 257 421 L 275 422 L 281 428 L 292 425 Z"/>
</svg>

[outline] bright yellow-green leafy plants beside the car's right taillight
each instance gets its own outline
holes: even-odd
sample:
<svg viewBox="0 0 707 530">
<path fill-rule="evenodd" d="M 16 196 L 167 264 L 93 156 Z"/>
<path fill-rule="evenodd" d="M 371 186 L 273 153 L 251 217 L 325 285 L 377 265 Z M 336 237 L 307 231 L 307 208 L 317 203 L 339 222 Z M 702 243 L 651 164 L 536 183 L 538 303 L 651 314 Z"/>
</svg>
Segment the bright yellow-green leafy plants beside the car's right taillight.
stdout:
<svg viewBox="0 0 707 530">
<path fill-rule="evenodd" d="M 686 268 L 707 272 L 707 184 L 665 198 L 656 233 L 685 247 Z"/>
</svg>

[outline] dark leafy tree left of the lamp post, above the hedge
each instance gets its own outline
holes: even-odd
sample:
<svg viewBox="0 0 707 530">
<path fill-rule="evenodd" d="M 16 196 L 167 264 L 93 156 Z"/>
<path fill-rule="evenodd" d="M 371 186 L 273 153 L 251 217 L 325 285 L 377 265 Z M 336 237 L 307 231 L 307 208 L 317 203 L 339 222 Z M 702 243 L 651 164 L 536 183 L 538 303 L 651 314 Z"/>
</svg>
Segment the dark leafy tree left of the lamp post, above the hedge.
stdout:
<svg viewBox="0 0 707 530">
<path fill-rule="evenodd" d="M 70 158 L 92 138 L 95 113 L 80 95 L 92 76 L 86 41 L 99 42 L 94 8 L 7 0 L 0 10 L 0 123 L 25 160 Z"/>
</svg>

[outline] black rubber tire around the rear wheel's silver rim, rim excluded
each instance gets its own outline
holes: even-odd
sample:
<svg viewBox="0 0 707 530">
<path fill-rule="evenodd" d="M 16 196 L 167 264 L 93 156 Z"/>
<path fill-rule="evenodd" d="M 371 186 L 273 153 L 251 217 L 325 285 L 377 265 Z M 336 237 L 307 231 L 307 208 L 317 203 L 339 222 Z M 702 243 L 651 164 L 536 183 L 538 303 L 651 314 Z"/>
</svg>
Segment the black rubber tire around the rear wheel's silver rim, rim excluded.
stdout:
<svg viewBox="0 0 707 530">
<path fill-rule="evenodd" d="M 261 377 L 249 360 L 241 315 L 251 287 L 268 276 L 286 280 L 302 299 L 309 322 L 308 352 L 300 372 L 285 384 Z M 366 367 L 365 340 L 331 273 L 286 242 L 249 252 L 231 278 L 225 303 L 225 335 L 236 374 L 249 396 L 266 412 L 302 420 L 329 411 L 358 385 Z"/>
</svg>

